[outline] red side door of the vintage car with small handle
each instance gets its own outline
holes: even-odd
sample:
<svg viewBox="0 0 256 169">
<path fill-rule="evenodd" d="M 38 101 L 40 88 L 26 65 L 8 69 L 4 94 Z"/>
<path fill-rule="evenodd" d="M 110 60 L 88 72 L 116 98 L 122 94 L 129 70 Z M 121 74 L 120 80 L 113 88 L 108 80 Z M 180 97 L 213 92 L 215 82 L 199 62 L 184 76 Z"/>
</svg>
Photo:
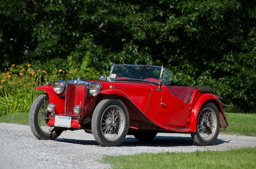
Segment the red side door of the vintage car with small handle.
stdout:
<svg viewBox="0 0 256 169">
<path fill-rule="evenodd" d="M 162 124 L 185 127 L 188 123 L 189 107 L 182 100 L 163 92 L 156 119 Z"/>
</svg>

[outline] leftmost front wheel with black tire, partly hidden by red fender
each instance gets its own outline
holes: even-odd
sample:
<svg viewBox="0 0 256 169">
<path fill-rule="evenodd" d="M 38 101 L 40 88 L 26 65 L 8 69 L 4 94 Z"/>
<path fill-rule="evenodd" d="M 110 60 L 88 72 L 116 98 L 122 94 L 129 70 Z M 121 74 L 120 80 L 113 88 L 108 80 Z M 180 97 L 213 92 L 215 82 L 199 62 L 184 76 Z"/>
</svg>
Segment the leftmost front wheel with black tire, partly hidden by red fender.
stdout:
<svg viewBox="0 0 256 169">
<path fill-rule="evenodd" d="M 41 94 L 38 96 L 29 112 L 29 126 L 32 133 L 39 140 L 54 140 L 62 133 L 62 130 L 56 127 L 47 126 L 49 119 L 43 118 L 44 112 L 44 100 L 45 100 L 45 117 L 49 117 L 49 112 L 46 110 L 47 105 L 49 104 L 49 97 L 47 94 Z"/>
</svg>

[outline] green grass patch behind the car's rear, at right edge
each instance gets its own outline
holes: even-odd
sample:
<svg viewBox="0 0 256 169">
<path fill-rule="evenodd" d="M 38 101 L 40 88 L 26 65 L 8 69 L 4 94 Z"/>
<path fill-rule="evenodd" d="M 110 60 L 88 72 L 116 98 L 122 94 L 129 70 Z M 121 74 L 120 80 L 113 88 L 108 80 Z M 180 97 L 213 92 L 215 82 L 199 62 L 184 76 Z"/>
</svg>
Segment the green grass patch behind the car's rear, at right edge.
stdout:
<svg viewBox="0 0 256 169">
<path fill-rule="evenodd" d="M 256 114 L 227 114 L 228 128 L 224 134 L 238 134 L 256 137 Z"/>
</svg>

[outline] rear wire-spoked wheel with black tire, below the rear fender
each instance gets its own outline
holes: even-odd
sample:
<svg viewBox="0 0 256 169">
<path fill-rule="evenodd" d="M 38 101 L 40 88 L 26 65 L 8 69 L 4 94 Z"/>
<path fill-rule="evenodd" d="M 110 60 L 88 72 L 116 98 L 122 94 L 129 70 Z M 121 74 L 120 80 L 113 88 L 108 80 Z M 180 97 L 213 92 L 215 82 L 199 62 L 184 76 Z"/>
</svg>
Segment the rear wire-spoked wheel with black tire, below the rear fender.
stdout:
<svg viewBox="0 0 256 169">
<path fill-rule="evenodd" d="M 191 134 L 196 145 L 212 145 L 220 131 L 220 116 L 212 102 L 205 102 L 200 108 L 196 132 Z"/>
</svg>

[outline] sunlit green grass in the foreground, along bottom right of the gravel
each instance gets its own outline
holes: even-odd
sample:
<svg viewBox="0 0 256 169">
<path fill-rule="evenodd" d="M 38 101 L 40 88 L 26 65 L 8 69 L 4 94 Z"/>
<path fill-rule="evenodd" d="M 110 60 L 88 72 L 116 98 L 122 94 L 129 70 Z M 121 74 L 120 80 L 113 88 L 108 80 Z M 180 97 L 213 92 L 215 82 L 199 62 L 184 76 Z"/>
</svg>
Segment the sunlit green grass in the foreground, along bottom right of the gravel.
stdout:
<svg viewBox="0 0 256 169">
<path fill-rule="evenodd" d="M 256 148 L 106 156 L 102 161 L 114 169 L 255 169 Z"/>
</svg>

